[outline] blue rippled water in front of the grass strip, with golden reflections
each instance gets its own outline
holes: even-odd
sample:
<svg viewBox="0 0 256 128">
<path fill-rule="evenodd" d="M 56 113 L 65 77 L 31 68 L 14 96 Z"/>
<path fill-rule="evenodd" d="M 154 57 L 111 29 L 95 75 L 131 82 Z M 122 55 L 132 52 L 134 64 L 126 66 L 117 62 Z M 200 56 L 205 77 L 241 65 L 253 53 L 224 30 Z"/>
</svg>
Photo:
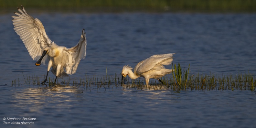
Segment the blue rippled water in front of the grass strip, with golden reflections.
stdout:
<svg viewBox="0 0 256 128">
<path fill-rule="evenodd" d="M 255 127 L 255 92 L 126 88 L 1 87 L 1 118 L 37 118 L 9 127 Z"/>
</svg>

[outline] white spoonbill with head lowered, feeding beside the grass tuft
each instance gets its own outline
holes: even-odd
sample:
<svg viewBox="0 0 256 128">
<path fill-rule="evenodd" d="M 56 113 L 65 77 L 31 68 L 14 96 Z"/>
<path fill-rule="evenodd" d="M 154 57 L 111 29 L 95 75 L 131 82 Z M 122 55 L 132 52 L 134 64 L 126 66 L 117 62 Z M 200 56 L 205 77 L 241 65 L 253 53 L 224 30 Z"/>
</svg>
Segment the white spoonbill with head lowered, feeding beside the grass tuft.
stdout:
<svg viewBox="0 0 256 128">
<path fill-rule="evenodd" d="M 139 62 L 135 68 L 134 72 L 132 67 L 125 65 L 122 70 L 122 81 L 123 78 L 128 75 L 131 79 L 137 79 L 138 77 L 145 78 L 146 85 L 148 85 L 149 79 L 153 78 L 162 82 L 159 78 L 170 74 L 172 69 L 165 69 L 164 65 L 170 65 L 173 61 L 173 54 L 168 53 L 162 55 L 153 55 L 148 59 L 144 59 Z"/>
</svg>

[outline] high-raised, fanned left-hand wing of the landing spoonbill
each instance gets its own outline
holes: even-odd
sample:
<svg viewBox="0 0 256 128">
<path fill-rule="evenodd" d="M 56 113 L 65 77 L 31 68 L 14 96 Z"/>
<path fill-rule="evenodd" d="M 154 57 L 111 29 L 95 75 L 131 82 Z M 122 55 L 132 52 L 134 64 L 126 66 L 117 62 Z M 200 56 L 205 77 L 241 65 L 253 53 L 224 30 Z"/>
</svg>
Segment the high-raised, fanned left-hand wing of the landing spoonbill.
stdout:
<svg viewBox="0 0 256 128">
<path fill-rule="evenodd" d="M 25 8 L 21 5 L 21 9 L 18 8 L 21 13 L 16 13 L 17 16 L 12 16 L 14 19 L 13 25 L 15 32 L 20 36 L 25 47 L 27 48 L 29 55 L 33 60 L 38 60 L 43 49 L 51 45 L 51 40 L 46 35 L 43 24 L 39 19 L 34 19 L 27 14 Z M 46 64 L 49 61 L 49 56 L 46 55 L 42 59 L 42 63 Z"/>
</svg>

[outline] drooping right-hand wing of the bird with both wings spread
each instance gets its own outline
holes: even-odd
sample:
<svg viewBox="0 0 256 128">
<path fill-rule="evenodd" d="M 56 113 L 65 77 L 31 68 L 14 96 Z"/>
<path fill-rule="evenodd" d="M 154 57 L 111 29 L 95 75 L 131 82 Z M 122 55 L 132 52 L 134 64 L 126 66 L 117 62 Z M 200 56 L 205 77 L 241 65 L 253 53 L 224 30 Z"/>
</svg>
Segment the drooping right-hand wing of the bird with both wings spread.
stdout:
<svg viewBox="0 0 256 128">
<path fill-rule="evenodd" d="M 76 73 L 78 64 L 81 59 L 85 58 L 86 55 L 86 33 L 82 30 L 81 38 L 78 44 L 72 48 L 66 48 L 65 53 L 67 54 L 66 73 Z"/>
</svg>

